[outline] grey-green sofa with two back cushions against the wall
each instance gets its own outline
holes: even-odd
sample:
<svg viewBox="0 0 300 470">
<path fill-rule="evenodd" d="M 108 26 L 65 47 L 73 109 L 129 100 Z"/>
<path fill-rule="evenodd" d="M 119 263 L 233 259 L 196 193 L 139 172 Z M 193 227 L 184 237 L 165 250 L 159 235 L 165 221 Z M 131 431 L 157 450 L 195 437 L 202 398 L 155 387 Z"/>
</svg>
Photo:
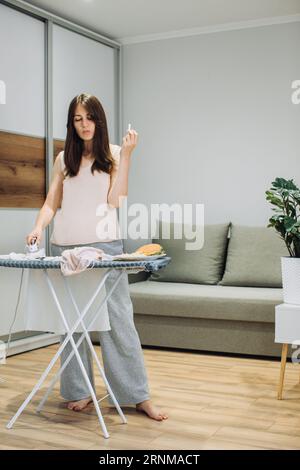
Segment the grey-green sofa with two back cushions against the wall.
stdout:
<svg viewBox="0 0 300 470">
<path fill-rule="evenodd" d="M 161 233 L 162 223 L 159 230 Z M 282 303 L 284 242 L 271 228 L 205 226 L 201 250 L 185 239 L 153 239 L 171 263 L 151 275 L 129 275 L 134 320 L 144 346 L 280 356 L 275 305 Z"/>
</svg>

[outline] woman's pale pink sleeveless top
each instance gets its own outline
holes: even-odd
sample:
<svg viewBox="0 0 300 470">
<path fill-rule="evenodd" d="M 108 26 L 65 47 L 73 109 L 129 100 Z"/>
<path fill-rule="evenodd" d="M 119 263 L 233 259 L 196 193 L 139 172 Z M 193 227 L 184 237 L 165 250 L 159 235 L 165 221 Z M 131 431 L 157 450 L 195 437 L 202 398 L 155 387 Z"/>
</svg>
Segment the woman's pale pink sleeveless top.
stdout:
<svg viewBox="0 0 300 470">
<path fill-rule="evenodd" d="M 110 150 L 119 162 L 121 147 L 110 144 Z M 63 171 L 63 151 L 60 158 Z M 61 208 L 54 217 L 51 243 L 83 245 L 121 239 L 117 209 L 107 203 L 110 175 L 103 171 L 92 174 L 92 163 L 80 166 L 76 176 L 65 177 Z"/>
</svg>

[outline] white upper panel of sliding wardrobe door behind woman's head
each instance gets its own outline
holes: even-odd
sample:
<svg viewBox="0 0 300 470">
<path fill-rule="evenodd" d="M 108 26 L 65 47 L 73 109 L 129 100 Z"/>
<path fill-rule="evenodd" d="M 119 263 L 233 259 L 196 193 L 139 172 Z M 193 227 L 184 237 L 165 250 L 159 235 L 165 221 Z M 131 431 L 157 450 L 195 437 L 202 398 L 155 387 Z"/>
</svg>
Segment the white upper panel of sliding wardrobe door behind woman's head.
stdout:
<svg viewBox="0 0 300 470">
<path fill-rule="evenodd" d="M 54 25 L 53 138 L 55 155 L 64 147 L 69 103 L 80 93 L 97 96 L 106 113 L 110 142 L 118 143 L 116 54 L 116 50 L 110 46 Z"/>
</svg>

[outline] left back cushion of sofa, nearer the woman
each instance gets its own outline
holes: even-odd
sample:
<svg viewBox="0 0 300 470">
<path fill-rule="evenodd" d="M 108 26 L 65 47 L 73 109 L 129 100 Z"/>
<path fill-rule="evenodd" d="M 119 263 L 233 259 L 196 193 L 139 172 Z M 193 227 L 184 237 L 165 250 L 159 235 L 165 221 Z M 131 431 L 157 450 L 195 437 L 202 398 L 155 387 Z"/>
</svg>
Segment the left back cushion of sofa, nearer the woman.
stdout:
<svg viewBox="0 0 300 470">
<path fill-rule="evenodd" d="M 191 242 L 185 238 L 184 233 L 187 233 L 185 230 L 181 239 L 174 237 L 174 223 L 168 223 L 170 239 L 162 238 L 162 224 L 165 223 L 159 221 L 160 237 L 154 238 L 152 243 L 160 243 L 172 259 L 164 269 L 151 274 L 149 279 L 164 282 L 217 284 L 224 271 L 229 223 L 205 225 L 204 245 L 200 250 L 185 248 L 185 243 Z M 195 226 L 192 227 L 195 230 Z"/>
</svg>

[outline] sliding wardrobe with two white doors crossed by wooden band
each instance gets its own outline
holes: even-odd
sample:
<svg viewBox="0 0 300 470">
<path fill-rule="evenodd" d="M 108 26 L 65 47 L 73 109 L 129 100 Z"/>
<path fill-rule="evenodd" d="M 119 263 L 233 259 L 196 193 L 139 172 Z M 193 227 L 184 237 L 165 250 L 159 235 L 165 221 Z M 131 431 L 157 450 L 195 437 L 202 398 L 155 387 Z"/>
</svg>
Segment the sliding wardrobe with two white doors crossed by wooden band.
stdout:
<svg viewBox="0 0 300 470">
<path fill-rule="evenodd" d="M 0 4 L 0 254 L 25 251 L 25 238 L 45 201 L 46 176 L 51 178 L 46 168 L 52 173 L 52 159 L 64 148 L 68 106 L 74 96 L 98 97 L 110 142 L 120 143 L 118 50 L 77 32 L 76 27 L 67 28 L 52 19 L 46 41 L 44 19 Z M 46 161 L 46 128 L 54 144 L 50 162 Z M 52 224 L 47 232 L 41 248 L 47 245 Z M 13 339 L 33 337 L 32 346 L 42 341 L 36 339 L 39 332 L 24 332 L 22 315 L 14 318 L 20 280 L 21 270 L 0 268 L 0 341 L 13 332 Z M 45 343 L 55 340 L 54 335 L 48 336 L 52 339 Z"/>
</svg>

